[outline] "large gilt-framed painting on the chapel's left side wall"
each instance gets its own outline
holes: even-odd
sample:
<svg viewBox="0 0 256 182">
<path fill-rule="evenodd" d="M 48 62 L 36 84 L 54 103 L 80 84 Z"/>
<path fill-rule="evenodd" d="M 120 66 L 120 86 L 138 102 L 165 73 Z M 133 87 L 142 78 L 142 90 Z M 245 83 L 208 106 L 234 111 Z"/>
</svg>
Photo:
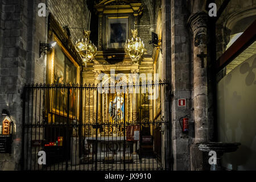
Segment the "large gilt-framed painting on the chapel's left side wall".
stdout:
<svg viewBox="0 0 256 182">
<path fill-rule="evenodd" d="M 51 84 L 72 85 L 80 83 L 80 66 L 63 46 L 55 34 L 53 41 L 57 44 L 51 52 Z M 69 89 L 69 90 L 68 90 Z M 72 119 L 79 116 L 79 90 L 77 88 L 52 88 L 49 93 L 49 111 Z M 69 96 L 68 96 L 69 95 Z M 69 105 L 68 105 L 69 103 Z"/>
</svg>

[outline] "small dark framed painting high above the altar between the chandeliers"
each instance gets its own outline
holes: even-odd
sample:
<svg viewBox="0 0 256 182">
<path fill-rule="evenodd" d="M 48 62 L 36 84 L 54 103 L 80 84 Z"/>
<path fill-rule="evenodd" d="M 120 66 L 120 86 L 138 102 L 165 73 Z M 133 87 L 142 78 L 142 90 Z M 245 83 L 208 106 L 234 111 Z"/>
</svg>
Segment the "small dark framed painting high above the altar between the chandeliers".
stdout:
<svg viewBox="0 0 256 182">
<path fill-rule="evenodd" d="M 128 16 L 119 18 L 108 17 L 108 27 L 106 31 L 108 49 L 124 48 L 129 35 L 128 20 Z"/>
</svg>

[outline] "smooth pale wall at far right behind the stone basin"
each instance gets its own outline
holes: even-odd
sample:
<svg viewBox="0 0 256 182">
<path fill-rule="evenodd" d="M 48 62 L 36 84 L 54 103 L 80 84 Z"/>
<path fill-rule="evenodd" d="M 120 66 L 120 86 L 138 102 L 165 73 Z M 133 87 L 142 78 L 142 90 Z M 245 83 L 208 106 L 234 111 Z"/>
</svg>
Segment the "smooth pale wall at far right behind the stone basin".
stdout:
<svg viewBox="0 0 256 182">
<path fill-rule="evenodd" d="M 218 139 L 240 142 L 222 157 L 232 170 L 256 170 L 256 55 L 218 82 Z"/>
</svg>

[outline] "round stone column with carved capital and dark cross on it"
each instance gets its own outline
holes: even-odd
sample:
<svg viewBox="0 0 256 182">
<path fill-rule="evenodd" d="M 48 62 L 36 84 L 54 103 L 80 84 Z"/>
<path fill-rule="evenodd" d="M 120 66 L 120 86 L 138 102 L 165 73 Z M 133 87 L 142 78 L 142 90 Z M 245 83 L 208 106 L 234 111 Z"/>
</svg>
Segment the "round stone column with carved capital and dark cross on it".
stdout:
<svg viewBox="0 0 256 182">
<path fill-rule="evenodd" d="M 192 14 L 189 25 L 193 33 L 193 75 L 194 75 L 194 143 L 208 140 L 208 93 L 207 93 L 207 18 L 204 12 Z"/>
</svg>

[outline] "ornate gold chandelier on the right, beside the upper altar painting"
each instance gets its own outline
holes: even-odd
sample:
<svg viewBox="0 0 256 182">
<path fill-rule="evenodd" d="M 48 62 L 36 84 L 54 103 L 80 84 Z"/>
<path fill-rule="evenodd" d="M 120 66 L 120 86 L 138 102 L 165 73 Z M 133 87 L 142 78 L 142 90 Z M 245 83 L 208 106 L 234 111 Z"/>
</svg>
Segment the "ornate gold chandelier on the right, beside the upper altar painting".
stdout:
<svg viewBox="0 0 256 182">
<path fill-rule="evenodd" d="M 137 37 L 138 30 L 131 30 L 131 34 L 133 34 L 133 38 L 126 40 L 125 53 L 130 56 L 134 63 L 137 63 L 147 50 L 144 48 L 141 38 Z"/>
</svg>

